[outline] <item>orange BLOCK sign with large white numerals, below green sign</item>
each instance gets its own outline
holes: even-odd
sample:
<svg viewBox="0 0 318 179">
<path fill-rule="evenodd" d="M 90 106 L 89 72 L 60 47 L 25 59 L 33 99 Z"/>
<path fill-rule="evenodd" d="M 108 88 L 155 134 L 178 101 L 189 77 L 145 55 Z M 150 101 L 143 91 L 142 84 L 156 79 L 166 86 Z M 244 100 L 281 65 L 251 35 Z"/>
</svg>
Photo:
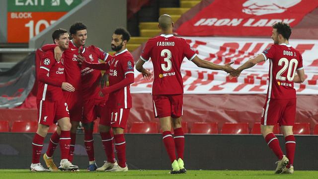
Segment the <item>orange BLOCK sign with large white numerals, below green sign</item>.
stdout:
<svg viewBox="0 0 318 179">
<path fill-rule="evenodd" d="M 7 42 L 27 43 L 67 12 L 8 12 Z"/>
</svg>

